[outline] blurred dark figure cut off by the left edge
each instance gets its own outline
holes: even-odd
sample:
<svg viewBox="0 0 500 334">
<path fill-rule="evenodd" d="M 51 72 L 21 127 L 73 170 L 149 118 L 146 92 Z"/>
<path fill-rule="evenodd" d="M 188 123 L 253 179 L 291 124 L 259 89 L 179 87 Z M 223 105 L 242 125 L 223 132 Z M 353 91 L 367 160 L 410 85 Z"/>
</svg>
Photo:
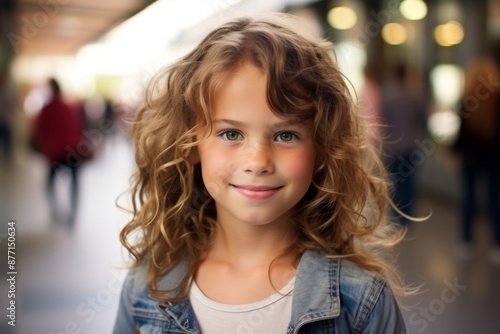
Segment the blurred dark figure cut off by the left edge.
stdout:
<svg viewBox="0 0 500 334">
<path fill-rule="evenodd" d="M 15 101 L 9 92 L 7 79 L 0 74 L 0 149 L 6 162 L 11 160 L 13 150 L 12 127 Z"/>
</svg>

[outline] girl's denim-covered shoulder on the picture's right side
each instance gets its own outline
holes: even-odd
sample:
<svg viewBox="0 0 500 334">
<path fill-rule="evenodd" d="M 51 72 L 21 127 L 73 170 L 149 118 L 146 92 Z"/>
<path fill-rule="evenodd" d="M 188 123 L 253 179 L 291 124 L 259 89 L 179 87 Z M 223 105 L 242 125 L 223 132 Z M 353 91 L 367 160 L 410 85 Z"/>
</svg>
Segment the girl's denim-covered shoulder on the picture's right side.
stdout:
<svg viewBox="0 0 500 334">
<path fill-rule="evenodd" d="M 341 330 L 360 332 L 386 322 L 394 333 L 404 331 L 401 312 L 386 280 L 346 258 L 306 251 L 297 271 L 294 298 L 292 318 L 296 323 L 325 314 Z"/>
</svg>

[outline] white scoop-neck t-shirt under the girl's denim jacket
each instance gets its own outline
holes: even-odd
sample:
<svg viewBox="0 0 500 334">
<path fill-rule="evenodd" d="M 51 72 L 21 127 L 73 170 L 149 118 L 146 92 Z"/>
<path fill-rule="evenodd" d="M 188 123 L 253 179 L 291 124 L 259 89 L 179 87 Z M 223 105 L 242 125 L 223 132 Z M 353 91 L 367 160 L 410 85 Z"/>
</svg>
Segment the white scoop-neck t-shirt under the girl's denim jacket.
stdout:
<svg viewBox="0 0 500 334">
<path fill-rule="evenodd" d="M 286 333 L 292 316 L 295 277 L 279 292 L 249 304 L 223 304 L 207 298 L 192 282 L 189 299 L 202 334 Z"/>
</svg>

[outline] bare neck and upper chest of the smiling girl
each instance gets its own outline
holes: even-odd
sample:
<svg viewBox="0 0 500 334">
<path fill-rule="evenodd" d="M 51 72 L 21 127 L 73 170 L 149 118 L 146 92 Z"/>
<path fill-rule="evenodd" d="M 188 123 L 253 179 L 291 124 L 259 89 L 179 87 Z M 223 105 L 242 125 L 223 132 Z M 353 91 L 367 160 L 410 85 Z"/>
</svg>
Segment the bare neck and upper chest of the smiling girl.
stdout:
<svg viewBox="0 0 500 334">
<path fill-rule="evenodd" d="M 297 254 L 285 253 L 295 241 L 290 225 L 219 222 L 194 277 L 201 291 L 221 303 L 245 304 L 284 287 L 296 271 Z"/>
</svg>

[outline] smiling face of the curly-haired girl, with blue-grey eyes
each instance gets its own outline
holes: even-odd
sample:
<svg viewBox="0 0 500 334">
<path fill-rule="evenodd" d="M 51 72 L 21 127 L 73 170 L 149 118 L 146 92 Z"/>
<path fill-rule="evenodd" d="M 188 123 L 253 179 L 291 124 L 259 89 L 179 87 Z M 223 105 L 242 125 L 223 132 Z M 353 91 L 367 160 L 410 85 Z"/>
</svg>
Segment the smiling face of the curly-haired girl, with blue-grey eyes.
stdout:
<svg viewBox="0 0 500 334">
<path fill-rule="evenodd" d="M 242 64 L 215 94 L 212 132 L 198 153 L 217 221 L 286 222 L 309 188 L 315 161 L 312 122 L 291 124 L 266 98 L 266 76 Z"/>
</svg>

